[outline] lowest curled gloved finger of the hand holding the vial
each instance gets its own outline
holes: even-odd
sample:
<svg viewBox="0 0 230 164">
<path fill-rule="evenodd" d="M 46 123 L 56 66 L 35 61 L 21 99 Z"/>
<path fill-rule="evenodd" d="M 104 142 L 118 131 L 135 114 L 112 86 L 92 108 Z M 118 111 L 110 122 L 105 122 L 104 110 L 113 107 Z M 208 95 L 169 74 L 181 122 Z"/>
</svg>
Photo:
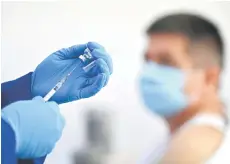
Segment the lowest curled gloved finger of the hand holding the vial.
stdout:
<svg viewBox="0 0 230 164">
<path fill-rule="evenodd" d="M 89 85 L 81 90 L 79 95 L 81 98 L 88 98 L 98 93 L 106 82 L 106 75 L 101 73 L 92 80 L 94 80 L 92 85 Z"/>
</svg>

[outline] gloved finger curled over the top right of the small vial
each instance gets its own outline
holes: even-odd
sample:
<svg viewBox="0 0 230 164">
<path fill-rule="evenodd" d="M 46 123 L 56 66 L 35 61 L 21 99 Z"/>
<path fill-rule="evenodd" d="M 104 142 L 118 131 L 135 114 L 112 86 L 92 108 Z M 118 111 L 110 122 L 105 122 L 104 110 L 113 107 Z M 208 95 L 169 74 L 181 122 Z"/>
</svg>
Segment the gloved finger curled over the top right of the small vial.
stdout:
<svg viewBox="0 0 230 164">
<path fill-rule="evenodd" d="M 92 55 L 97 59 L 103 59 L 109 67 L 109 73 L 113 73 L 113 62 L 110 55 L 103 49 L 95 49 L 92 52 Z"/>
</svg>

